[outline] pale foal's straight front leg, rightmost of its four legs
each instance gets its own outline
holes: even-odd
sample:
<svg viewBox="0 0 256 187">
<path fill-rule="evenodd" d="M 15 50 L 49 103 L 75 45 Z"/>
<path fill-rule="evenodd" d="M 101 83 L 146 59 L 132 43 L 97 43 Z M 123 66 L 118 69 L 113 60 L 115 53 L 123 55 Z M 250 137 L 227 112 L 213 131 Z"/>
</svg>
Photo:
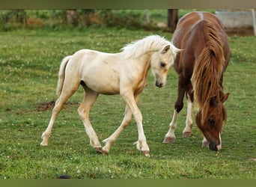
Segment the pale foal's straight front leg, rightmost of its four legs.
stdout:
<svg viewBox="0 0 256 187">
<path fill-rule="evenodd" d="M 125 102 L 127 102 L 127 105 L 129 106 L 130 110 L 132 111 L 132 114 L 138 126 L 138 141 L 136 142 L 137 149 L 141 150 L 145 156 L 150 156 L 150 150 L 147 145 L 146 137 L 144 135 L 144 130 L 142 126 L 142 115 L 141 111 L 138 109 L 138 106 L 135 102 L 135 96 L 133 95 L 132 91 L 127 92 L 126 94 L 122 94 L 122 96 Z"/>
</svg>

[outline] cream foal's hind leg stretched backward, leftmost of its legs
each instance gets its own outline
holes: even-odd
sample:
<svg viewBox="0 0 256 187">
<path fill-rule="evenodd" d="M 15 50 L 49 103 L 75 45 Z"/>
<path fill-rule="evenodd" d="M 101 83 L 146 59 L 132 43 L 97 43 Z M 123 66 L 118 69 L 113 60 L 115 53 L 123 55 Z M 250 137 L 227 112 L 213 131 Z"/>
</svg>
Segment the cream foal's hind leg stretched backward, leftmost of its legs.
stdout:
<svg viewBox="0 0 256 187">
<path fill-rule="evenodd" d="M 43 132 L 43 134 L 42 134 L 43 141 L 41 142 L 41 146 L 47 146 L 48 145 L 49 136 L 51 135 L 51 132 L 52 132 L 52 126 L 53 126 L 53 123 L 54 123 L 58 113 L 63 108 L 65 102 L 67 102 L 67 99 L 69 99 L 70 96 L 72 96 L 73 93 L 76 92 L 78 87 L 79 87 L 79 84 L 78 85 L 74 84 L 72 86 L 72 85 L 69 85 L 69 82 L 64 82 L 64 86 L 63 86 L 61 95 L 56 100 L 55 106 L 52 109 L 52 117 L 49 121 L 49 125 L 47 126 L 46 131 Z"/>
</svg>

